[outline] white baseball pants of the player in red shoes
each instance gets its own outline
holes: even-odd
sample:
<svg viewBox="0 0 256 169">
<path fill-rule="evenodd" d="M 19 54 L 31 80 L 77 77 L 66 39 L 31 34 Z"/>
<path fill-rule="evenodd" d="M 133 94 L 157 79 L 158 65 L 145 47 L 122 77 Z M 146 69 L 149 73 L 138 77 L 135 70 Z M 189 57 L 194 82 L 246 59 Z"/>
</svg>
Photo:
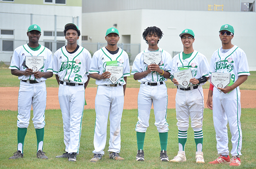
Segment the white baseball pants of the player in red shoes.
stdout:
<svg viewBox="0 0 256 169">
<path fill-rule="evenodd" d="M 227 122 L 230 126 L 232 150 L 231 155 L 241 155 L 242 131 L 241 131 L 241 103 L 239 87 L 224 94 L 218 89 L 213 89 L 212 113 L 216 132 L 218 154 L 229 155 Z"/>
</svg>

